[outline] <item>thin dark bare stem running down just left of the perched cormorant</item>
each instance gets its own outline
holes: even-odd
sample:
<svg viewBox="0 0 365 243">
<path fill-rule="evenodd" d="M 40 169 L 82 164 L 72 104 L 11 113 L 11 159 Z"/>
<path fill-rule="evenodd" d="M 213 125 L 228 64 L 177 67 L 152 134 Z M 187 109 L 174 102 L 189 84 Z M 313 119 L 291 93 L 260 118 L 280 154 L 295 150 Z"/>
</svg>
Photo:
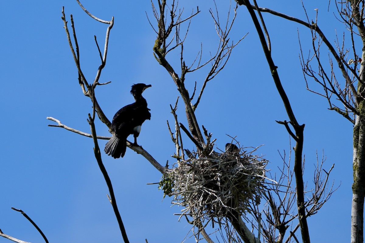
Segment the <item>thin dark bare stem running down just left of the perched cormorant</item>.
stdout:
<svg viewBox="0 0 365 243">
<path fill-rule="evenodd" d="M 93 103 L 95 104 L 95 102 L 93 102 Z M 118 224 L 119 224 L 120 232 L 122 233 L 122 236 L 123 236 L 124 243 L 129 243 L 127 233 L 126 233 L 126 229 L 124 228 L 122 217 L 120 217 L 118 206 L 116 204 L 116 200 L 115 200 L 115 196 L 114 196 L 114 190 L 113 190 L 113 186 L 112 186 L 110 177 L 108 176 L 108 172 L 105 169 L 103 161 L 101 160 L 100 148 L 99 148 L 99 144 L 97 143 L 94 119 L 95 119 L 95 106 L 93 105 L 93 117 L 91 117 L 91 115 L 89 113 L 88 122 L 89 122 L 89 125 L 90 125 L 91 134 L 92 134 L 94 145 L 95 145 L 95 147 L 94 147 L 95 158 L 96 158 L 97 164 L 99 165 L 101 173 L 103 173 L 105 182 L 107 183 L 109 193 L 110 193 L 109 201 L 112 204 L 116 219 L 117 219 Z"/>
</svg>

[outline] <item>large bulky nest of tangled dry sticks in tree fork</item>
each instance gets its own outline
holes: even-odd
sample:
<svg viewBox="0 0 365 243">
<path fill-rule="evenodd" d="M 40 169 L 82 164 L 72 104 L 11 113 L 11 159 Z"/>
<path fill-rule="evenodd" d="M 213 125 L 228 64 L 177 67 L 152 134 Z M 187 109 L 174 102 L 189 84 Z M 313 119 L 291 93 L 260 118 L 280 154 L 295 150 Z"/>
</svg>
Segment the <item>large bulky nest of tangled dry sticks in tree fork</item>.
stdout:
<svg viewBox="0 0 365 243">
<path fill-rule="evenodd" d="M 192 153 L 177 163 L 169 175 L 174 182 L 170 195 L 184 206 L 182 215 L 219 220 L 231 209 L 245 215 L 260 203 L 268 161 L 241 150 L 213 152 L 209 158 Z"/>
</svg>

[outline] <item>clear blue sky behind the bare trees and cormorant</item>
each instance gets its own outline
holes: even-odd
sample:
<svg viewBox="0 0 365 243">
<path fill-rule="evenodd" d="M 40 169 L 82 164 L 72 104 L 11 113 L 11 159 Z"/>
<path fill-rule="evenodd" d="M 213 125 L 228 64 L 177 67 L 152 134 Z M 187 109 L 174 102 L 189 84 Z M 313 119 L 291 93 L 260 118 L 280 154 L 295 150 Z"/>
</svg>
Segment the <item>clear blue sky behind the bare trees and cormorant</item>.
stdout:
<svg viewBox="0 0 365 243">
<path fill-rule="evenodd" d="M 138 143 L 162 165 L 175 152 L 166 120 L 173 124 L 169 104 L 174 104 L 178 91 L 168 73 L 153 57 L 156 34 L 146 18 L 153 21 L 150 1 L 90 0 L 84 4 L 93 15 L 110 20 L 115 18 L 110 34 L 107 64 L 100 82 L 112 81 L 96 90 L 98 102 L 111 120 L 120 107 L 133 102 L 129 94 L 133 83 L 147 83 L 145 91 L 151 109 L 151 121 L 142 126 Z M 272 8 L 305 19 L 300 1 L 259 1 L 262 7 Z M 334 43 L 335 34 L 345 31 L 334 15 L 334 3 L 305 1 L 310 19 L 319 10 L 319 26 Z M 199 5 L 201 13 L 192 20 L 185 43 L 185 62 L 191 63 L 203 44 L 203 57 L 216 51 L 218 37 L 208 12 L 212 1 L 181 1 L 185 15 Z M 0 121 L 2 196 L 0 200 L 0 228 L 8 235 L 29 242 L 41 242 L 34 227 L 11 207 L 20 208 L 38 224 L 50 242 L 118 242 L 121 235 L 112 207 L 106 197 L 105 181 L 93 155 L 90 138 L 48 127 L 54 124 L 46 117 L 59 119 L 63 124 L 89 133 L 88 113 L 92 112 L 89 98 L 84 97 L 77 81 L 77 70 L 68 46 L 61 20 L 65 6 L 66 17 L 73 14 L 81 67 L 89 82 L 95 78 L 100 64 L 93 36 L 103 46 L 107 25 L 89 17 L 76 1 L 6 1 L 0 10 L 1 27 Z M 219 16 L 225 19 L 229 1 L 219 3 Z M 332 9 L 332 10 L 331 10 Z M 316 151 L 326 155 L 325 169 L 332 164 L 335 186 L 341 187 L 319 213 L 308 223 L 312 242 L 347 242 L 350 237 L 352 184 L 352 124 L 334 111 L 327 110 L 325 99 L 306 90 L 299 63 L 298 30 L 302 49 L 308 53 L 311 45 L 309 30 L 295 23 L 263 14 L 272 41 L 272 55 L 291 101 L 297 120 L 306 124 L 304 178 L 311 186 Z M 70 27 L 70 21 L 69 21 Z M 281 165 L 278 151 L 289 150 L 289 135 L 275 120 L 285 120 L 287 114 L 275 89 L 268 64 L 259 43 L 257 32 L 245 7 L 238 8 L 231 40 L 237 41 L 249 33 L 234 49 L 226 68 L 208 83 L 197 108 L 200 125 L 204 125 L 217 139 L 217 149 L 230 141 L 226 135 L 237 136 L 244 146 L 257 147 L 270 161 L 273 171 Z M 350 44 L 347 39 L 345 43 Z M 350 47 L 350 46 L 349 46 Z M 360 50 L 361 51 L 361 46 Z M 323 56 L 326 56 L 326 48 Z M 167 59 L 178 71 L 179 52 Z M 207 70 L 188 74 L 187 87 L 194 82 L 201 87 Z M 340 77 L 340 76 L 338 76 Z M 308 79 L 310 80 L 310 79 Z M 316 88 L 315 84 L 312 83 Z M 318 87 L 317 87 L 318 88 Z M 192 90 L 189 90 L 192 93 Z M 178 118 L 186 125 L 184 105 L 179 103 Z M 96 132 L 109 136 L 107 127 L 96 122 Z M 132 137 L 129 138 L 132 140 Z M 106 141 L 100 141 L 103 147 Z M 193 144 L 184 138 L 185 148 Z M 103 155 L 103 162 L 114 185 L 118 207 L 130 242 L 181 242 L 191 226 L 173 213 L 169 198 L 157 185 L 161 174 L 141 155 L 127 149 L 122 159 Z M 214 237 L 212 238 L 215 239 Z M 9 242 L 0 239 L 0 242 Z M 193 242 L 189 239 L 188 242 Z"/>
</svg>

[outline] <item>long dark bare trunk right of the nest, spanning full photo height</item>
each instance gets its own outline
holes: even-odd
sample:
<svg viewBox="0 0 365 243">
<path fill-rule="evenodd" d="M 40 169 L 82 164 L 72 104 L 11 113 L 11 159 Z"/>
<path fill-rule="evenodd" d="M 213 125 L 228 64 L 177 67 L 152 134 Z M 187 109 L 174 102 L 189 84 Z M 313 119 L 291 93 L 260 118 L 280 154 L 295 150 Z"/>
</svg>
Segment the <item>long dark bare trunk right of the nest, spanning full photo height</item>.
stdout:
<svg viewBox="0 0 365 243">
<path fill-rule="evenodd" d="M 243 0 L 245 3 L 247 10 L 249 11 L 251 18 L 255 24 L 258 36 L 260 38 L 262 49 L 264 50 L 266 60 L 269 64 L 271 74 L 274 79 L 274 83 L 276 88 L 280 94 L 281 99 L 284 102 L 285 109 L 287 110 L 288 117 L 290 119 L 291 125 L 295 130 L 295 137 L 296 137 L 296 145 L 295 145 L 295 159 L 294 159 L 294 172 L 295 172 L 295 179 L 296 179 L 296 189 L 297 189 L 297 208 L 298 208 L 298 219 L 300 224 L 300 230 L 302 235 L 303 243 L 310 243 L 310 235 L 308 230 L 308 223 L 306 218 L 306 208 L 304 207 L 304 183 L 303 183 L 303 170 L 302 170 L 302 153 L 303 153 L 303 131 L 304 131 L 304 124 L 299 125 L 297 122 L 293 110 L 291 108 L 289 99 L 287 94 L 284 91 L 283 86 L 281 85 L 281 81 L 279 75 L 277 73 L 277 67 L 275 66 L 273 59 L 271 57 L 270 51 L 265 41 L 264 33 L 262 32 L 260 23 L 258 22 L 257 16 L 253 10 L 253 7 L 250 4 L 249 0 Z"/>
</svg>

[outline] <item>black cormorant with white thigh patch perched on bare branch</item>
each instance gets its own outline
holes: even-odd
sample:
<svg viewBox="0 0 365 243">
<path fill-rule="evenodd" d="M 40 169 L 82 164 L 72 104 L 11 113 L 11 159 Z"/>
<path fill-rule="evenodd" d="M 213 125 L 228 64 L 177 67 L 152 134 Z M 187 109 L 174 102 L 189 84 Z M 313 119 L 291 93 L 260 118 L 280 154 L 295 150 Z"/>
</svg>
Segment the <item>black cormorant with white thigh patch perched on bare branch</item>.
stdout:
<svg viewBox="0 0 365 243">
<path fill-rule="evenodd" d="M 141 132 L 141 126 L 144 121 L 151 119 L 150 109 L 147 108 L 147 101 L 142 97 L 143 91 L 151 87 L 144 83 L 132 85 L 131 94 L 135 102 L 124 106 L 115 113 L 112 121 L 111 132 L 113 136 L 105 145 L 105 153 L 113 158 L 124 156 L 127 149 L 127 137 L 130 134 L 134 136 L 133 146 L 138 146 L 137 137 Z"/>
</svg>

